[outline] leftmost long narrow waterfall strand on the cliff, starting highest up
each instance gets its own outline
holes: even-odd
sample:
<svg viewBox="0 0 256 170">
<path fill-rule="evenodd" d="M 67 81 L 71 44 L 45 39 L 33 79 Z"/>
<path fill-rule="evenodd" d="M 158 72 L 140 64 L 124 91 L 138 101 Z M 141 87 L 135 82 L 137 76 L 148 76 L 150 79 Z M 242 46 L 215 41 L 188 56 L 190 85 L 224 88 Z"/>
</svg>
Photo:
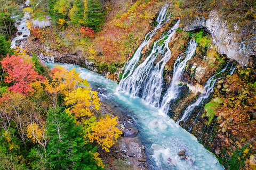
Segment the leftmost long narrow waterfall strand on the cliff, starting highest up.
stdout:
<svg viewBox="0 0 256 170">
<path fill-rule="evenodd" d="M 123 73 L 123 79 L 119 82 L 118 89 L 120 89 L 120 90 L 124 89 L 125 84 L 126 84 L 126 82 L 125 82 L 126 79 L 132 75 L 135 67 L 137 66 L 137 63 L 140 60 L 142 49 L 150 42 L 151 38 L 155 35 L 156 31 L 158 29 L 162 28 L 164 23 L 166 23 L 170 20 L 170 17 L 168 17 L 166 19 L 168 7 L 169 7 L 168 4 L 165 4 L 162 7 L 162 9 L 159 12 L 158 17 L 156 19 L 157 25 L 156 25 L 155 29 L 150 31 L 149 33 L 147 33 L 147 35 L 145 36 L 145 39 L 143 40 L 141 45 L 138 47 L 136 52 L 133 54 L 133 57 L 131 58 L 131 60 L 129 62 L 127 62 L 125 69 L 124 69 L 124 73 Z"/>
</svg>

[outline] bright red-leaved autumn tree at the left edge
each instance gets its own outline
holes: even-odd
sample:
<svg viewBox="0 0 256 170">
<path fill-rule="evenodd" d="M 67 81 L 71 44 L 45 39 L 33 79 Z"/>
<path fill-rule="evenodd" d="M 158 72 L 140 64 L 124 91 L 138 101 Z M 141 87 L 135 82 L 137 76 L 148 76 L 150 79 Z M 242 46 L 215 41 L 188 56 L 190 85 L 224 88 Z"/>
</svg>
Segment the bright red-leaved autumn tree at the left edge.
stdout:
<svg viewBox="0 0 256 170">
<path fill-rule="evenodd" d="M 34 70 L 33 63 L 24 60 L 21 55 L 12 55 L 11 57 L 7 55 L 1 64 L 4 71 L 8 74 L 4 81 L 13 84 L 8 88 L 11 91 L 28 95 L 29 91 L 33 91 L 30 83 L 44 81 L 44 77 L 38 75 L 38 72 Z"/>
</svg>

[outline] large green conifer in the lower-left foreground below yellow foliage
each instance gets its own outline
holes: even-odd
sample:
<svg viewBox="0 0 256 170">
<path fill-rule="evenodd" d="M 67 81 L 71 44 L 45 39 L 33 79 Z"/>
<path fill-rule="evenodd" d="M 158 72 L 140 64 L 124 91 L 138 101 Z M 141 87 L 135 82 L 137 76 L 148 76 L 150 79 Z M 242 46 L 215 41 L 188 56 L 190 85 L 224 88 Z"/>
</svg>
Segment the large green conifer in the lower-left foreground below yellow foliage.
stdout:
<svg viewBox="0 0 256 170">
<path fill-rule="evenodd" d="M 38 156 L 44 155 L 41 162 L 46 169 L 102 169 L 93 160 L 97 147 L 93 148 L 84 141 L 82 127 L 76 125 L 74 118 L 65 111 L 62 112 L 60 108 L 50 109 L 46 129 L 49 138 L 46 151 L 43 154 L 36 153 Z M 35 150 L 31 152 L 33 154 Z"/>
</svg>

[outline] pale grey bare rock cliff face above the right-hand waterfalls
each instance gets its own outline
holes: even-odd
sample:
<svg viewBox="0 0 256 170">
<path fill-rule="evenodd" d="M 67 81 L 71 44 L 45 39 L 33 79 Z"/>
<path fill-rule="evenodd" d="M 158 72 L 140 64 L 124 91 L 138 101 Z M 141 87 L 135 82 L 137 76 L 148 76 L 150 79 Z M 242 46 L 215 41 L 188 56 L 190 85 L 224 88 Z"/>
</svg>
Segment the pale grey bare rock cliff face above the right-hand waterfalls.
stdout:
<svg viewBox="0 0 256 170">
<path fill-rule="evenodd" d="M 256 24 L 256 21 L 255 21 Z M 256 28 L 250 29 L 251 37 L 244 39 L 244 33 L 248 30 L 241 30 L 237 24 L 234 24 L 233 31 L 230 31 L 227 21 L 222 20 L 216 11 L 211 11 L 209 19 L 196 17 L 194 21 L 186 23 L 185 31 L 204 29 L 208 31 L 212 38 L 213 44 L 217 46 L 220 54 L 237 61 L 242 66 L 249 65 L 249 58 L 256 60 Z M 254 33 L 254 35 L 253 35 Z"/>
</svg>

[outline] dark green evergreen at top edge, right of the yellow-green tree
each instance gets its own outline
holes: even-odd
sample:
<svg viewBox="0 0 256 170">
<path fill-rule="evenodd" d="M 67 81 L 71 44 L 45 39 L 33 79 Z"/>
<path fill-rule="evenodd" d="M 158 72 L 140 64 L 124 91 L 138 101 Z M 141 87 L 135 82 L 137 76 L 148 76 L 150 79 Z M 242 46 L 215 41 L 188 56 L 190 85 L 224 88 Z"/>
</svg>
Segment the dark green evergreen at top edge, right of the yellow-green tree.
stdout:
<svg viewBox="0 0 256 170">
<path fill-rule="evenodd" d="M 101 10 L 100 3 L 98 0 L 88 0 L 87 7 L 88 15 L 86 26 L 93 28 L 95 31 L 99 31 L 104 22 L 104 13 Z"/>
</svg>

